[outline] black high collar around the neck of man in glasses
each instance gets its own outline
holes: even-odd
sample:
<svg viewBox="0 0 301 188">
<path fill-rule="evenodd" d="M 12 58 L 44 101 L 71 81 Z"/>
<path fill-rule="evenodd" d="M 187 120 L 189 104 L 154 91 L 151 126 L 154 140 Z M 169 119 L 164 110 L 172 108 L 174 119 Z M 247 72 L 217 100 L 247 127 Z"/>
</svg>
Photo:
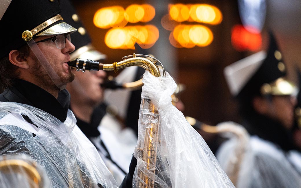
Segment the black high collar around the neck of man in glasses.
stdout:
<svg viewBox="0 0 301 188">
<path fill-rule="evenodd" d="M 56 99 L 53 95 L 33 83 L 16 79 L 13 87 L 2 93 L 1 101 L 31 105 L 64 122 L 67 118 L 70 94 L 64 89 L 59 91 Z"/>
</svg>

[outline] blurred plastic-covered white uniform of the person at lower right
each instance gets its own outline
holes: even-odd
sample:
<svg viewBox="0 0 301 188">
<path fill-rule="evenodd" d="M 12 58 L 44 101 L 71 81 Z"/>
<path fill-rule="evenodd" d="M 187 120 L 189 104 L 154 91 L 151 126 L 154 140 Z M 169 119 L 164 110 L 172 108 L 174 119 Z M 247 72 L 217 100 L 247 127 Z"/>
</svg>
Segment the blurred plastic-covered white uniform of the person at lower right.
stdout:
<svg viewBox="0 0 301 188">
<path fill-rule="evenodd" d="M 244 147 L 241 147 L 243 150 L 240 154 L 243 155 L 237 156 L 235 149 L 240 144 L 237 137 L 231 137 L 216 153 L 226 173 L 231 172 L 234 164 L 239 163 L 237 177 L 233 177 L 236 188 L 301 187 L 301 175 L 297 170 L 300 170 L 300 166 L 292 163 L 295 161 L 294 163 L 300 164 L 300 153 L 295 151 L 290 157 L 274 143 L 251 136 Z"/>
</svg>

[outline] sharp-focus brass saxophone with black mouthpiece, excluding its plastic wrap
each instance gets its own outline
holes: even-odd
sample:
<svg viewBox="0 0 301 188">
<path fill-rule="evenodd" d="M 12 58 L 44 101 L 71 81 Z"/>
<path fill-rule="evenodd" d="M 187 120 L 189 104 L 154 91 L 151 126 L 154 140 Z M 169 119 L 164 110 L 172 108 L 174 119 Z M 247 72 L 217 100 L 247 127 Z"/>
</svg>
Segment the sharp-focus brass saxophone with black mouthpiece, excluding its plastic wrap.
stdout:
<svg viewBox="0 0 301 188">
<path fill-rule="evenodd" d="M 148 55 L 133 54 L 126 57 L 123 57 L 123 60 L 120 62 L 115 62 L 112 64 L 103 64 L 97 61 L 79 59 L 68 62 L 68 65 L 75 68 L 77 71 L 81 70 L 105 70 L 105 71 L 114 71 L 117 72 L 119 69 L 123 69 L 129 66 L 140 66 L 147 71 L 149 71 L 153 76 L 161 76 L 159 67 L 157 66 L 161 62 L 154 57 Z M 165 76 L 165 70 L 163 69 L 163 75 Z M 145 116 L 149 121 L 143 121 L 142 124 L 147 124 L 147 129 L 145 131 L 144 137 L 144 148 L 139 149 L 138 153 L 143 159 L 144 163 L 147 164 L 147 171 L 155 174 L 156 171 L 156 160 L 157 160 L 157 148 L 153 144 L 158 138 L 158 127 L 159 127 L 159 114 L 157 109 L 154 107 L 154 104 L 150 99 L 142 99 L 142 116 Z M 154 188 L 154 177 L 148 177 L 147 173 L 138 169 L 139 180 L 136 182 L 136 187 L 149 187 Z"/>
</svg>

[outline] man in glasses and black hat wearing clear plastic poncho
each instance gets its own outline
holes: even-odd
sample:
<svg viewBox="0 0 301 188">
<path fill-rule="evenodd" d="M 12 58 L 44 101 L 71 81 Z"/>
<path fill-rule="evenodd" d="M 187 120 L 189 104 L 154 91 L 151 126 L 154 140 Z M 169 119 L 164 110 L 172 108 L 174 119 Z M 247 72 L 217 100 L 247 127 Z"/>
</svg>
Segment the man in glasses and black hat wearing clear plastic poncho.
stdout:
<svg viewBox="0 0 301 188">
<path fill-rule="evenodd" d="M 68 109 L 76 29 L 57 0 L 1 4 L 1 155 L 28 154 L 45 167 L 51 187 L 118 187 Z"/>
</svg>

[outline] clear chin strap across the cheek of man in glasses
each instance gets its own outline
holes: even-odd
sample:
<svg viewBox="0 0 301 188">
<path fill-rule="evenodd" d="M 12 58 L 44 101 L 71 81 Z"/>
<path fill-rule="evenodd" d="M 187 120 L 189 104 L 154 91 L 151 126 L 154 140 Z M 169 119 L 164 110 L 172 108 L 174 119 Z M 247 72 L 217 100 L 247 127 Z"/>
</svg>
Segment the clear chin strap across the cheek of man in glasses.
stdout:
<svg viewBox="0 0 301 188">
<path fill-rule="evenodd" d="M 29 48 L 33 51 L 33 53 L 35 54 L 39 62 L 42 64 L 45 71 L 50 76 L 52 82 L 57 86 L 57 88 L 59 88 L 60 90 L 65 89 L 66 85 L 63 84 L 60 77 L 54 71 L 54 69 L 52 68 L 52 66 L 50 65 L 50 63 L 48 62 L 48 60 L 46 59 L 46 57 L 44 56 L 44 54 L 42 53 L 38 45 L 36 44 L 36 42 L 32 39 L 30 41 L 26 41 L 26 43 L 29 46 Z"/>
</svg>

